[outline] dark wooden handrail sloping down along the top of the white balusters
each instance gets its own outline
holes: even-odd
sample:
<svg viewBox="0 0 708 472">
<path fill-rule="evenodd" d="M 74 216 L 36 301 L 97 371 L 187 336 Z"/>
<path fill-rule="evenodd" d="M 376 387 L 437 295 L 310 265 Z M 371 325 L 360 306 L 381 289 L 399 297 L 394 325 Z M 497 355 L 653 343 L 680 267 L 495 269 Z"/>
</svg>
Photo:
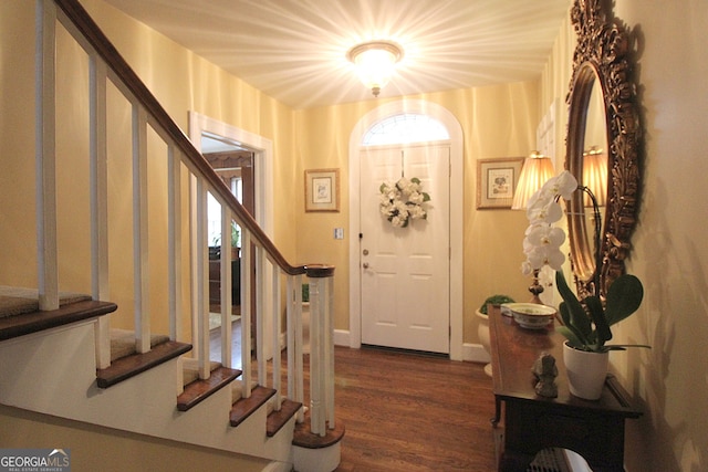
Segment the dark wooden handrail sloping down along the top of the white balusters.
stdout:
<svg viewBox="0 0 708 472">
<path fill-rule="evenodd" d="M 139 80 L 135 71 L 133 71 L 125 59 L 123 59 L 118 51 L 113 46 L 111 41 L 108 41 L 103 31 L 101 31 L 98 25 L 93 21 L 81 3 L 79 3 L 77 0 L 54 0 L 54 2 L 72 21 L 74 27 L 85 36 L 88 44 L 91 44 L 96 53 L 105 61 L 115 75 L 124 83 L 125 87 L 147 111 L 148 115 L 152 117 L 152 123 L 159 125 L 164 133 L 173 140 L 175 146 L 179 148 L 185 158 L 205 176 L 214 190 L 237 216 L 239 224 L 241 224 L 244 230 L 249 231 L 254 242 L 269 254 L 269 259 L 271 259 L 271 261 L 280 266 L 280 269 L 287 274 L 298 275 L 306 273 L 305 265 L 292 265 L 285 260 L 268 234 L 266 234 L 253 217 L 251 217 L 251 214 L 236 199 L 233 193 L 231 193 L 231 190 L 214 171 L 211 165 L 207 159 L 205 159 L 201 153 L 195 148 L 189 138 L 167 114 L 165 108 L 163 108 L 147 86 L 143 84 L 143 81 Z"/>
</svg>

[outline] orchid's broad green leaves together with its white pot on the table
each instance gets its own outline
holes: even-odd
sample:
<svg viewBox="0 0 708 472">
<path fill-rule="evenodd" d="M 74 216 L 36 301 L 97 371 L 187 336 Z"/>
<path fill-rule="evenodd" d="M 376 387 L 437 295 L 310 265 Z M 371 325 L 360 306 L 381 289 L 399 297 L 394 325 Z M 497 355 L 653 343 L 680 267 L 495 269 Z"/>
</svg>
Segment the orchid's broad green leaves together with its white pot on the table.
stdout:
<svg viewBox="0 0 708 472">
<path fill-rule="evenodd" d="M 610 350 L 647 345 L 606 344 L 612 339 L 611 326 L 637 311 L 644 297 L 642 282 L 629 274 L 618 276 L 607 290 L 606 300 L 590 295 L 579 301 L 568 286 L 562 271 L 555 273 L 555 285 L 563 302 L 559 311 L 564 325 L 555 331 L 565 336 L 563 360 L 571 394 L 596 400 L 607 376 Z"/>
</svg>

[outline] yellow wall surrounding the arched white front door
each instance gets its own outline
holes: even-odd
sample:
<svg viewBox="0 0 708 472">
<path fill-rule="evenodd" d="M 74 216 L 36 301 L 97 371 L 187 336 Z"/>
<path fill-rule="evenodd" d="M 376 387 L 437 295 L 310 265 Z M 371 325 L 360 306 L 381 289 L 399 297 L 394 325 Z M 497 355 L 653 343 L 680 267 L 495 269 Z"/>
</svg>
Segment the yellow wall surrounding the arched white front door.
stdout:
<svg viewBox="0 0 708 472">
<path fill-rule="evenodd" d="M 400 98 L 296 112 L 296 155 L 304 168 L 342 169 L 342 204 L 339 213 L 300 212 L 298 254 L 302 262 L 336 265 L 335 327 L 348 331 L 350 138 L 357 122 L 376 106 Z M 464 133 L 464 313 L 465 342 L 477 343 L 475 310 L 492 293 L 527 300 L 529 281 L 520 272 L 521 240 L 527 225 L 523 212 L 476 210 L 477 160 L 523 157 L 535 147 L 539 122 L 538 83 L 516 83 L 435 94 L 406 96 L 447 108 Z M 366 178 L 366 176 L 362 176 Z M 302 183 L 300 183 L 302 186 Z M 302 191 L 299 192 L 302 198 Z M 300 209 L 303 203 L 299 202 Z M 345 240 L 332 237 L 344 228 Z M 509 250 L 513 248 L 513 250 Z"/>
</svg>

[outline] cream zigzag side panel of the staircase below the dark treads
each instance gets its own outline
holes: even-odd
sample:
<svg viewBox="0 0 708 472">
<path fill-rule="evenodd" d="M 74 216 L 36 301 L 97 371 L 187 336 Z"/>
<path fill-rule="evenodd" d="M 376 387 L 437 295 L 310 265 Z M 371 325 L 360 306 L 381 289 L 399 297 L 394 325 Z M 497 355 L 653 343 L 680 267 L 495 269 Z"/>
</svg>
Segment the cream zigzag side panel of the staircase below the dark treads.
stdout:
<svg viewBox="0 0 708 472">
<path fill-rule="evenodd" d="M 79 322 L 0 343 L 0 402 L 60 418 L 292 463 L 292 418 L 274 437 L 261 407 L 229 424 L 231 389 L 177 410 L 180 361 L 168 360 L 107 389 L 96 386 L 97 321 Z"/>
</svg>

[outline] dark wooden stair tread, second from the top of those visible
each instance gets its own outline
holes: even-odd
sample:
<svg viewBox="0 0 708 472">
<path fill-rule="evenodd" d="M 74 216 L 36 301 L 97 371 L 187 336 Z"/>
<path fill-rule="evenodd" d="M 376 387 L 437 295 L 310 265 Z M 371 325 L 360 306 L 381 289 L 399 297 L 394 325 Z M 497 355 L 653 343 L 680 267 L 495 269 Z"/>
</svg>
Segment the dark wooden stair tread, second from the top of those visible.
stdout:
<svg viewBox="0 0 708 472">
<path fill-rule="evenodd" d="M 97 369 L 96 384 L 100 388 L 108 388 L 190 350 L 190 344 L 176 340 L 158 344 L 147 353 L 122 357 L 110 367 Z"/>
</svg>

